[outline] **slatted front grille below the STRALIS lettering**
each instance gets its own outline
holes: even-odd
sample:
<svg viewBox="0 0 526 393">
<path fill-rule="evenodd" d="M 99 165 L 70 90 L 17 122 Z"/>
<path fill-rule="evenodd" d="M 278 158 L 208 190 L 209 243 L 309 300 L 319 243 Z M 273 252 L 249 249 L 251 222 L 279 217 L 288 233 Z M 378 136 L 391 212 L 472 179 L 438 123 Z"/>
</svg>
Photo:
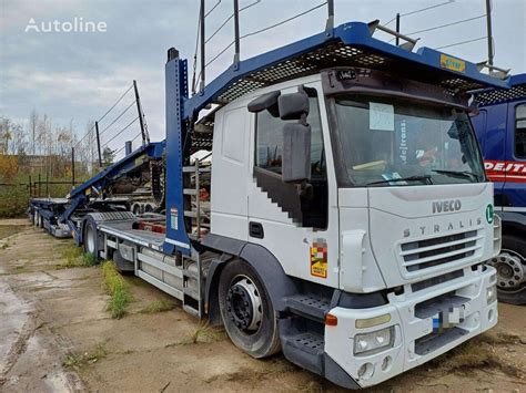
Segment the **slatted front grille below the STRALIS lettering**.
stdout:
<svg viewBox="0 0 526 393">
<path fill-rule="evenodd" d="M 473 257 L 481 248 L 477 230 L 405 242 L 399 255 L 407 272 L 429 269 Z"/>
</svg>

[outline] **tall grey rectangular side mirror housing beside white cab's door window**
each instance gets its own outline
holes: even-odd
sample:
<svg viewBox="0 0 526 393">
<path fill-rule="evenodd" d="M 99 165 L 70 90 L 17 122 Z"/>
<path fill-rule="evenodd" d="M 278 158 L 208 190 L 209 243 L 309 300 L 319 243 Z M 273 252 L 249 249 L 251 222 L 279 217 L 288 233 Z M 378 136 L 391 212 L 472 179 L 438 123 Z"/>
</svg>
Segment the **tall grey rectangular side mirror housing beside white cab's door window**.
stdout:
<svg viewBox="0 0 526 393">
<path fill-rule="evenodd" d="M 311 126 L 285 124 L 283 126 L 282 179 L 301 183 L 311 179 Z"/>
</svg>

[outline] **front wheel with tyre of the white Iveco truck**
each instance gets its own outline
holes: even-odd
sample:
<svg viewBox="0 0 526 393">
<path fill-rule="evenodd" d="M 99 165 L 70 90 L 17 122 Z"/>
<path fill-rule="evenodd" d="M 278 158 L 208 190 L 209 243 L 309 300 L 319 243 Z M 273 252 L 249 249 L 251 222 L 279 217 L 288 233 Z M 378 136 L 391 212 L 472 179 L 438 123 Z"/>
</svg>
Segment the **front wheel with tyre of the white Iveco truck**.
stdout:
<svg viewBox="0 0 526 393">
<path fill-rule="evenodd" d="M 253 358 L 280 351 L 280 335 L 271 299 L 254 269 L 242 260 L 229 262 L 221 272 L 219 303 L 226 333 Z"/>
</svg>

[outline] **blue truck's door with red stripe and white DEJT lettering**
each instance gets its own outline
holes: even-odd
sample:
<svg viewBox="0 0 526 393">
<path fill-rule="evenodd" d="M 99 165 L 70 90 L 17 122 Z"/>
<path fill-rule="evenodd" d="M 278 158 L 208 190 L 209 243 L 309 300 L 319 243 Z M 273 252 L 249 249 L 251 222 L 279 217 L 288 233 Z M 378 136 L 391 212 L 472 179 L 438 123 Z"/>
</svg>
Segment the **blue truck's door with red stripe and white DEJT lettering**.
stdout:
<svg viewBox="0 0 526 393">
<path fill-rule="evenodd" d="M 526 207 L 526 101 L 508 104 L 504 209 Z"/>
</svg>

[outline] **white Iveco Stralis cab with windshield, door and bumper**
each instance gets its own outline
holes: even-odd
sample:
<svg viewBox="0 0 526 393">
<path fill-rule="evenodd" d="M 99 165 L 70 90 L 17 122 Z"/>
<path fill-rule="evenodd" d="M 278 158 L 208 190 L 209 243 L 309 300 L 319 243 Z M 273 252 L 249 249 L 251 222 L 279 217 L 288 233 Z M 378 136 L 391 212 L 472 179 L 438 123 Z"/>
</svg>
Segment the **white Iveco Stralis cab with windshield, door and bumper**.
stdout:
<svg viewBox="0 0 526 393">
<path fill-rule="evenodd" d="M 466 106 L 342 69 L 218 112 L 210 236 L 264 247 L 316 293 L 304 302 L 330 303 L 323 329 L 282 341 L 287 358 L 304 365 L 296 347 L 324 347 L 366 386 L 497 322 L 495 270 L 483 265 L 499 249 L 493 185 Z M 279 320 L 280 333 L 303 324 Z"/>
</svg>

